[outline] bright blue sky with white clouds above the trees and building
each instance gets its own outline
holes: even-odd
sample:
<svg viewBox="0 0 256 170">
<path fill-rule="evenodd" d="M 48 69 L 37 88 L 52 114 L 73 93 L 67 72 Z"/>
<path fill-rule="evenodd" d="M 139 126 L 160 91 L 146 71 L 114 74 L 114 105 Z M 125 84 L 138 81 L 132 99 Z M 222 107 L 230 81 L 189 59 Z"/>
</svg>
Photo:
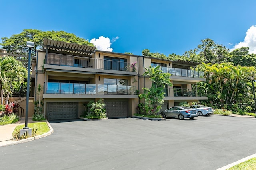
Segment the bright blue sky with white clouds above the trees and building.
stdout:
<svg viewBox="0 0 256 170">
<path fill-rule="evenodd" d="M 256 54 L 256 0 L 0 0 L 0 37 L 66 31 L 99 50 L 182 55 L 210 38 Z"/>
</svg>

